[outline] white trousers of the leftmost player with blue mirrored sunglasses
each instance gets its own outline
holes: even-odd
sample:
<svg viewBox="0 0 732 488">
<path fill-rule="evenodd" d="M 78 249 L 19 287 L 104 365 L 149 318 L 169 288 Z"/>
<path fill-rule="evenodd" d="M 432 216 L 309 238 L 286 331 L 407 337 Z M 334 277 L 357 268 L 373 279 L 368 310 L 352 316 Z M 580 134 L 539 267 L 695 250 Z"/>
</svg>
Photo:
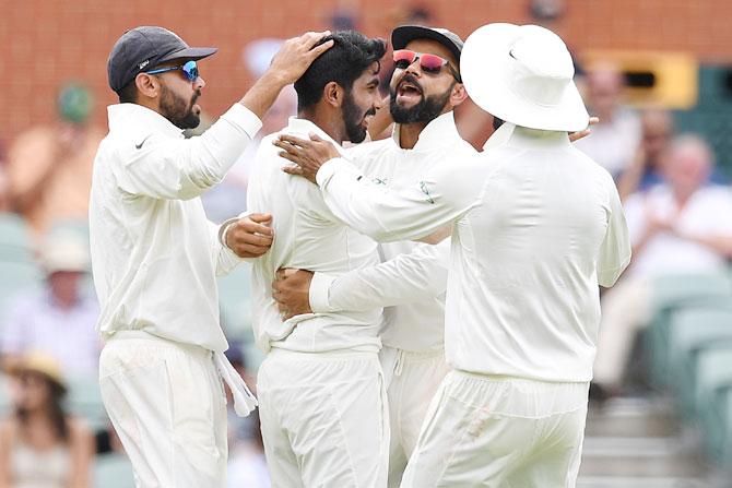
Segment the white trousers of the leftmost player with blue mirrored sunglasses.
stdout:
<svg viewBox="0 0 732 488">
<path fill-rule="evenodd" d="M 226 396 L 213 353 L 119 333 L 102 350 L 102 398 L 138 488 L 226 483 Z"/>
</svg>

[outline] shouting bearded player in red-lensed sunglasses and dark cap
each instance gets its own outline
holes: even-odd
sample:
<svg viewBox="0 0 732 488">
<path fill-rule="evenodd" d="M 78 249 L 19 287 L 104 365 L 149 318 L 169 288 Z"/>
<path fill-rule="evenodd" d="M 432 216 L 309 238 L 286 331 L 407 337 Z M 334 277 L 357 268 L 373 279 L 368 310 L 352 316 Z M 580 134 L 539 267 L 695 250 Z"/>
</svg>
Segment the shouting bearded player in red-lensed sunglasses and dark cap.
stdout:
<svg viewBox="0 0 732 488">
<path fill-rule="evenodd" d="M 417 185 L 446 158 L 476 151 L 463 141 L 452 109 L 467 97 L 459 63 L 463 41 L 444 28 L 413 25 L 393 31 L 395 70 L 391 138 L 346 151 L 366 178 L 383 188 Z M 386 307 L 380 337 L 388 384 L 389 486 L 399 486 L 427 406 L 448 371 L 445 362 L 445 290 L 450 240 L 379 246 L 382 263 L 340 275 L 297 271 L 275 283 L 274 298 L 287 317 L 308 312 Z"/>
</svg>

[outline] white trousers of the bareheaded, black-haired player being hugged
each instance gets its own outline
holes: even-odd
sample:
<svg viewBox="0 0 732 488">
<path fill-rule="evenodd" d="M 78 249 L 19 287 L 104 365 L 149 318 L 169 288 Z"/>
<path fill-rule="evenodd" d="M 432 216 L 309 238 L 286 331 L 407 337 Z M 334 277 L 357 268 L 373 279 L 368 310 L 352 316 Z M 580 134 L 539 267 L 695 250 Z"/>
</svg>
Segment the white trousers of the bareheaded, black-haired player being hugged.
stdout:
<svg viewBox="0 0 732 488">
<path fill-rule="evenodd" d="M 376 353 L 272 349 L 257 394 L 272 487 L 386 486 L 389 413 Z"/>
</svg>

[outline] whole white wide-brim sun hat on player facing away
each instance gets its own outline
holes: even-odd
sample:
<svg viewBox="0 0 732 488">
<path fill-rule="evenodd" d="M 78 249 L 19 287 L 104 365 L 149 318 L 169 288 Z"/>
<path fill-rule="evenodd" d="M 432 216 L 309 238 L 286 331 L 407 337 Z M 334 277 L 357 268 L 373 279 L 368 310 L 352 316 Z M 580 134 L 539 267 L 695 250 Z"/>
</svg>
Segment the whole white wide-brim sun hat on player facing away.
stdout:
<svg viewBox="0 0 732 488">
<path fill-rule="evenodd" d="M 460 74 L 473 102 L 507 122 L 568 132 L 589 123 L 567 46 L 544 27 L 480 27 L 465 40 Z"/>
</svg>

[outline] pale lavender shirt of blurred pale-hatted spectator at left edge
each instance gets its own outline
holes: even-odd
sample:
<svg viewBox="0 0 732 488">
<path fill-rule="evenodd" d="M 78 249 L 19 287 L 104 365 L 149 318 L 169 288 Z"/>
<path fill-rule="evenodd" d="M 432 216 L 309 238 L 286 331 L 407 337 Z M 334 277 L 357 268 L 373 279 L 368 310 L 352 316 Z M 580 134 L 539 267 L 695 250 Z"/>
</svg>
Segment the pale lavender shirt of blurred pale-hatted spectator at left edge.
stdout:
<svg viewBox="0 0 732 488">
<path fill-rule="evenodd" d="M 0 323 L 0 350 L 42 350 L 56 358 L 66 377 L 95 377 L 101 349 L 99 336 L 94 332 L 98 317 L 99 308 L 88 297 L 63 309 L 47 290 L 21 295 L 8 320 Z"/>
</svg>

